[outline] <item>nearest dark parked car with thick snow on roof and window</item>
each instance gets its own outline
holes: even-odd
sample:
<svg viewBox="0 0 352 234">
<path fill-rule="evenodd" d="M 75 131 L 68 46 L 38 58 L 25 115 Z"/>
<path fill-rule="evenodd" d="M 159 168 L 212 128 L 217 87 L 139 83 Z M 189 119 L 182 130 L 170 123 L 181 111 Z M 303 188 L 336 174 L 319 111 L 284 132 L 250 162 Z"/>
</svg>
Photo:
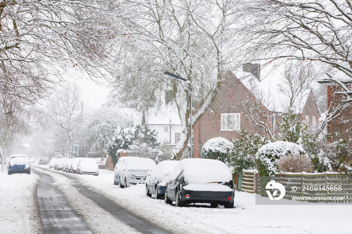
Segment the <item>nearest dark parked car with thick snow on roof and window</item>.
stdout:
<svg viewBox="0 0 352 234">
<path fill-rule="evenodd" d="M 233 208 L 234 186 L 230 169 L 214 159 L 184 159 L 166 179 L 165 202 L 176 206 L 190 203 L 219 204 Z"/>
</svg>

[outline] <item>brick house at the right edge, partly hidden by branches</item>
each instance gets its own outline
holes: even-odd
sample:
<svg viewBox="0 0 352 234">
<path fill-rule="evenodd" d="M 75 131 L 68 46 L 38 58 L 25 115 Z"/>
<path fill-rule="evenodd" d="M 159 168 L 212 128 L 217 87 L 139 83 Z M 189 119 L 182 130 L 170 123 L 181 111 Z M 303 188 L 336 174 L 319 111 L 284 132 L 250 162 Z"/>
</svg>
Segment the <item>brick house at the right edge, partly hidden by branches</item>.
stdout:
<svg viewBox="0 0 352 234">
<path fill-rule="evenodd" d="M 341 100 L 343 100 L 345 96 L 336 93 L 342 91 L 336 84 L 330 81 L 318 82 L 327 85 L 327 108 L 329 114 L 341 104 Z M 340 112 L 339 116 L 327 124 L 327 133 L 332 134 L 337 132 L 342 139 L 352 141 L 352 104 L 345 103 L 345 105 L 347 105 L 347 107 Z"/>
</svg>

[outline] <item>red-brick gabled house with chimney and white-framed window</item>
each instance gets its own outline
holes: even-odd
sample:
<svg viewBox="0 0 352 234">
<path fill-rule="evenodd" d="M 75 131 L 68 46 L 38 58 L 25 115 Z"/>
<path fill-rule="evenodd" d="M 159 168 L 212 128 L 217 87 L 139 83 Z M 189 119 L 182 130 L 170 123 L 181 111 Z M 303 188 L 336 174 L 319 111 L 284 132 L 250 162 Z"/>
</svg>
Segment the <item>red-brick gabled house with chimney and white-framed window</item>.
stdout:
<svg viewBox="0 0 352 234">
<path fill-rule="evenodd" d="M 251 113 L 255 118 L 265 121 L 272 131 L 277 131 L 276 123 L 282 121 L 282 110 L 272 108 L 275 101 L 266 99 L 266 93 L 257 92 L 256 87 L 266 85 L 260 80 L 260 67 L 244 67 L 244 72 L 230 71 L 225 75 L 219 93 L 208 110 L 193 128 L 193 157 L 200 158 L 201 150 L 209 139 L 223 137 L 229 141 L 237 137 L 239 130 L 245 130 L 252 134 L 266 135 L 267 132 L 255 125 L 248 117 Z M 248 73 L 248 70 L 252 72 Z M 253 72 L 254 71 L 254 72 Z M 268 92 L 268 91 L 267 91 Z M 271 91 L 269 91 L 271 92 Z M 280 96 L 278 97 L 281 98 Z M 269 103 L 267 106 L 261 103 Z M 319 111 L 313 93 L 308 90 L 301 100 L 300 108 L 296 112 L 301 115 L 302 120 L 307 120 L 311 125 L 317 125 Z M 254 112 L 248 111 L 254 110 Z M 275 111 L 273 110 L 275 109 Z M 194 113 L 198 106 L 194 109 Z"/>
</svg>

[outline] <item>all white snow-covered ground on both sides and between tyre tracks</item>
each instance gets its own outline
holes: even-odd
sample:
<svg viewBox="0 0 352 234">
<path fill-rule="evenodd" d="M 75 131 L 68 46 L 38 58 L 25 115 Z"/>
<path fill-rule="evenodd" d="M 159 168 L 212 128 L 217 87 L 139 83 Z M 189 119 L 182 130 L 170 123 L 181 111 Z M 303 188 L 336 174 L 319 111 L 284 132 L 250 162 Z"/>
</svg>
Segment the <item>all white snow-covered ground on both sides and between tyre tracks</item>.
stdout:
<svg viewBox="0 0 352 234">
<path fill-rule="evenodd" d="M 102 215 L 100 220 L 109 220 L 106 223 L 110 223 L 110 218 L 114 217 L 93 202 L 77 198 L 79 193 L 62 175 L 54 171 L 49 172 L 49 175 L 54 179 L 53 185 L 61 189 L 66 199 L 73 203 L 72 207 L 79 209 L 83 220 L 91 222 L 89 226 L 94 232 L 135 231 L 118 220 L 112 226 L 107 225 L 104 230 L 92 228 L 98 225 L 94 224 L 97 222 L 96 217 Z M 133 213 L 175 233 L 351 233 L 352 230 L 350 205 L 300 205 L 303 203 L 299 202 L 299 205 L 255 205 L 253 194 L 236 191 L 234 209 L 211 208 L 207 205 L 175 207 L 165 204 L 163 200 L 147 197 L 142 184 L 125 189 L 115 186 L 111 171 L 100 170 L 99 176 L 73 176 L 82 185 L 92 187 Z M 16 230 L 17 225 L 26 225 L 30 230 L 28 233 L 40 232 L 36 230 L 40 230 L 41 224 L 37 218 L 33 218 L 37 213 L 33 211 L 33 191 L 37 180 L 38 176 L 34 173 L 11 176 L 0 173 L 0 233 L 10 233 L 10 230 Z M 21 220 L 17 217 L 21 217 Z"/>
</svg>

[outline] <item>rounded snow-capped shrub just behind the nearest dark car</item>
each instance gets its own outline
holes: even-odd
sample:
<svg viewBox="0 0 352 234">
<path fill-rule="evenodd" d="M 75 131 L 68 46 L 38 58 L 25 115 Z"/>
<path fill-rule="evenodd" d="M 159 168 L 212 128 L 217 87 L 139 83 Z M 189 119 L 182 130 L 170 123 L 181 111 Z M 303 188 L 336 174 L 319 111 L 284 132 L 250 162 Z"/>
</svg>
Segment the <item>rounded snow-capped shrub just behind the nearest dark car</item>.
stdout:
<svg viewBox="0 0 352 234">
<path fill-rule="evenodd" d="M 202 157 L 205 159 L 217 159 L 228 165 L 228 152 L 232 143 L 222 137 L 209 139 L 202 148 Z"/>
</svg>

